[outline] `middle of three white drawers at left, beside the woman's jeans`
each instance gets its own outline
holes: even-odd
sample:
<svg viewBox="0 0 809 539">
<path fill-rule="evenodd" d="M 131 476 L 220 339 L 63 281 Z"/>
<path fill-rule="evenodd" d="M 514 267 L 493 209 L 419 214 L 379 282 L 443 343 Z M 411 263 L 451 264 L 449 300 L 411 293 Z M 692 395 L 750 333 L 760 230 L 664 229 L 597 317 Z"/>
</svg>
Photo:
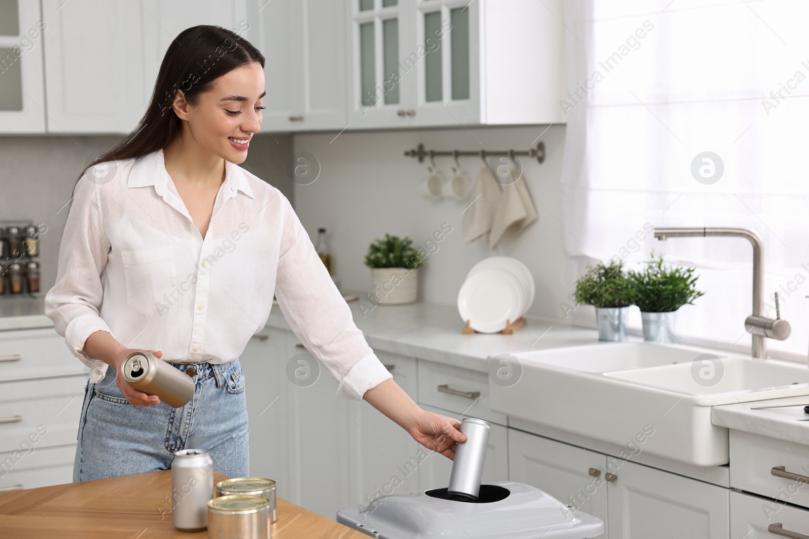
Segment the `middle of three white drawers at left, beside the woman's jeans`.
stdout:
<svg viewBox="0 0 809 539">
<path fill-rule="evenodd" d="M 83 376 L 0 383 L 0 453 L 75 444 Z"/>
</svg>

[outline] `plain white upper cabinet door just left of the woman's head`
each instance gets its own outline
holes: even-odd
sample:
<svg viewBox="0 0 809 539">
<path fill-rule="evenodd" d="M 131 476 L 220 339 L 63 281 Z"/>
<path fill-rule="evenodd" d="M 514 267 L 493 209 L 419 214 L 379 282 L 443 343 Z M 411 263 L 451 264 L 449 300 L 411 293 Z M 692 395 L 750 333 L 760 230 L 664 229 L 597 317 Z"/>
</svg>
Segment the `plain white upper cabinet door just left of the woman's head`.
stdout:
<svg viewBox="0 0 809 539">
<path fill-rule="evenodd" d="M 36 3 L 36 2 L 25 2 Z M 155 83 L 146 80 L 138 2 L 42 0 L 48 133 L 129 133 Z"/>
</svg>

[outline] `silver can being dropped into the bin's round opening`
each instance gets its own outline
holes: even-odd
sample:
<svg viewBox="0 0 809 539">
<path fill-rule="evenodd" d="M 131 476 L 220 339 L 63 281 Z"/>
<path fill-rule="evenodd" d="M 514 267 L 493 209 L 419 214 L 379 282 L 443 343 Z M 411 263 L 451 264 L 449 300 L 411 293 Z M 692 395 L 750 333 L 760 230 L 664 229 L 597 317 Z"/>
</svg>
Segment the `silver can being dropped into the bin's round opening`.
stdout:
<svg viewBox="0 0 809 539">
<path fill-rule="evenodd" d="M 466 435 L 466 440 L 455 447 L 448 494 L 462 499 L 477 499 L 481 492 L 490 431 L 491 425 L 483 419 L 464 418 L 461 421 L 460 432 Z"/>
</svg>

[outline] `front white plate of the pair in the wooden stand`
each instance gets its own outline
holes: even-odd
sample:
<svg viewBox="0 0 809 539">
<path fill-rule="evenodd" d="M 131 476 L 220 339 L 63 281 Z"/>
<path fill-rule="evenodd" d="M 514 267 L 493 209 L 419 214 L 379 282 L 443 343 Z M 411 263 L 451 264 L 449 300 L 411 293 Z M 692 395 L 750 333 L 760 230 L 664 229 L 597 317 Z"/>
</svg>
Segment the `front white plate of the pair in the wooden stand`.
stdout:
<svg viewBox="0 0 809 539">
<path fill-rule="evenodd" d="M 469 276 L 458 293 L 458 312 L 464 323 L 480 333 L 506 329 L 525 305 L 523 286 L 510 272 L 492 267 Z"/>
</svg>

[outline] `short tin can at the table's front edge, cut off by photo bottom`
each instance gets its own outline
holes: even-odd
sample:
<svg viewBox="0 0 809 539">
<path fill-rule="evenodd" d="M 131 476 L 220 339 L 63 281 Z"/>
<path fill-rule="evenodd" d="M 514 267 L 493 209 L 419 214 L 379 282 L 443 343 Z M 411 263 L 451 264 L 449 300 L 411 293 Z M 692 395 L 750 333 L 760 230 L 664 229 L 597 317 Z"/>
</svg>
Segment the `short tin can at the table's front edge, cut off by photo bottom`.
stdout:
<svg viewBox="0 0 809 539">
<path fill-rule="evenodd" d="M 208 502 L 210 539 L 268 539 L 269 499 L 258 495 L 219 496 Z"/>
</svg>

